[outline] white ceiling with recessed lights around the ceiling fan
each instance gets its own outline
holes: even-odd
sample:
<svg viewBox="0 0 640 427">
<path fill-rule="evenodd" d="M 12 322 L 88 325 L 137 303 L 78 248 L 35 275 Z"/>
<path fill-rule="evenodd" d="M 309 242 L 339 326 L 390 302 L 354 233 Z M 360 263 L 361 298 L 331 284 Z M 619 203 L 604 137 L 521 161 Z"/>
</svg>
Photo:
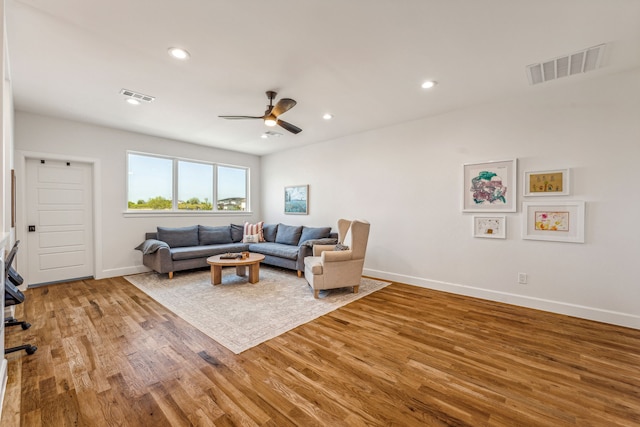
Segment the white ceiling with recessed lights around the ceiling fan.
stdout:
<svg viewBox="0 0 640 427">
<path fill-rule="evenodd" d="M 639 0 L 5 3 L 17 110 L 256 155 L 640 67 Z M 529 85 L 527 65 L 601 43 L 599 70 Z M 267 90 L 303 132 L 217 117 L 262 115 Z"/>
</svg>

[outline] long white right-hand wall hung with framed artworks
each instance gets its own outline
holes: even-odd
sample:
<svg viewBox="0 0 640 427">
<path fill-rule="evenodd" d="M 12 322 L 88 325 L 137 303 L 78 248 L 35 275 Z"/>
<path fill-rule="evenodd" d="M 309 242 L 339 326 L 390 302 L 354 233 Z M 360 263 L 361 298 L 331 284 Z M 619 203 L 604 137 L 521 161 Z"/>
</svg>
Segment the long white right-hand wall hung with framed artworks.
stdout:
<svg viewBox="0 0 640 427">
<path fill-rule="evenodd" d="M 640 73 L 630 72 L 269 155 L 264 219 L 364 218 L 367 275 L 640 328 L 639 117 Z M 518 212 L 506 214 L 507 239 L 474 239 L 462 165 L 511 158 Z M 521 238 L 523 171 L 556 168 L 572 169 L 571 195 L 543 200 L 587 202 L 584 244 Z M 310 185 L 308 216 L 282 214 L 293 184 Z"/>
</svg>

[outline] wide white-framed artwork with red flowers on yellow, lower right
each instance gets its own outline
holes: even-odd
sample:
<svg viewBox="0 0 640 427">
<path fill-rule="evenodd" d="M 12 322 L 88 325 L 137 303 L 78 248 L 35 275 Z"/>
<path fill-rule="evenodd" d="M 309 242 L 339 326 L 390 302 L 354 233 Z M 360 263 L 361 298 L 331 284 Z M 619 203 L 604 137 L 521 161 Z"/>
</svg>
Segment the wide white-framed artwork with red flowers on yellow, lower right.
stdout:
<svg viewBox="0 0 640 427">
<path fill-rule="evenodd" d="M 584 243 L 583 201 L 522 202 L 522 238 Z"/>
</svg>

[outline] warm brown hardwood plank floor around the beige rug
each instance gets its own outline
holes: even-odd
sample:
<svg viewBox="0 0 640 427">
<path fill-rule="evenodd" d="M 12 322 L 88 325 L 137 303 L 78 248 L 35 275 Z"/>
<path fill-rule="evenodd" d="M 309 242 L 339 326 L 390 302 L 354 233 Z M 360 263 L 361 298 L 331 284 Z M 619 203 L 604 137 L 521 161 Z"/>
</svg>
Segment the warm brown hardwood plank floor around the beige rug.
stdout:
<svg viewBox="0 0 640 427">
<path fill-rule="evenodd" d="M 2 426 L 640 425 L 639 330 L 394 283 L 235 355 L 122 278 L 26 295 Z"/>
</svg>

